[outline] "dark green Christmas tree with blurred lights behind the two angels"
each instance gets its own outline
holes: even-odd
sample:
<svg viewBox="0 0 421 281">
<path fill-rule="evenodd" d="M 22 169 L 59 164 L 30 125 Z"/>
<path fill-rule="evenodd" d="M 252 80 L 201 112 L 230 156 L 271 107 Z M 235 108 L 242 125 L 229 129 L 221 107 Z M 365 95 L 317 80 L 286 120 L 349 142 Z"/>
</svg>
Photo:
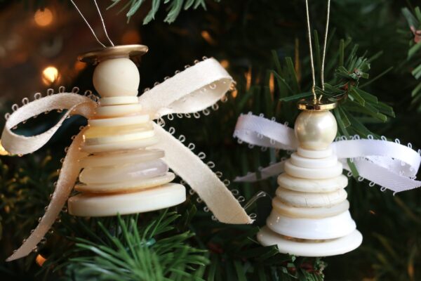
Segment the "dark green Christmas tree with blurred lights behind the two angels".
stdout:
<svg viewBox="0 0 421 281">
<path fill-rule="evenodd" d="M 79 3 L 80 2 L 80 3 Z M 102 23 L 91 1 L 76 1 L 93 30 Z M 328 98 L 347 96 L 335 110 L 338 136 L 359 135 L 411 143 L 417 150 L 421 97 L 421 13 L 415 1 L 332 1 L 326 46 Z M 66 119 L 51 141 L 31 155 L 2 151 L 0 243 L 2 280 L 418 280 L 421 278 L 419 190 L 394 195 L 348 162 L 352 218 L 363 244 L 347 254 L 300 257 L 263 247 L 256 235 L 272 209 L 276 178 L 233 183 L 269 162 L 289 157 L 272 148 L 248 148 L 232 137 L 242 113 L 294 124 L 300 98 L 311 96 L 312 72 L 305 1 L 172 0 L 100 1 L 116 45 L 145 44 L 138 62 L 139 93 L 203 55 L 213 57 L 236 81 L 208 115 L 165 118 L 232 191 L 253 224 L 215 220 L 200 197 L 169 209 L 83 218 L 62 209 L 29 256 L 6 262 L 50 202 L 65 148 L 86 119 Z M 311 1 L 316 77 L 321 76 L 326 2 Z M 314 29 L 314 31 L 313 31 Z M 95 67 L 76 60 L 98 48 L 69 1 L 0 1 L 2 113 L 36 91 L 78 86 L 93 90 Z M 100 39 L 105 41 L 105 35 Z M 180 67 L 181 66 L 181 67 Z M 82 91 L 83 89 L 83 91 Z M 70 90 L 69 90 L 70 91 Z M 95 92 L 94 92 L 95 94 Z M 13 105 L 14 107 L 14 105 Z M 49 112 L 15 131 L 34 136 L 65 112 Z M 2 126 L 4 126 L 4 120 Z M 215 129 L 218 128 L 218 129 Z M 346 172 L 345 172 L 346 174 Z M 175 178 L 180 182 L 180 178 Z M 229 183 L 231 181 L 231 183 Z"/>
</svg>

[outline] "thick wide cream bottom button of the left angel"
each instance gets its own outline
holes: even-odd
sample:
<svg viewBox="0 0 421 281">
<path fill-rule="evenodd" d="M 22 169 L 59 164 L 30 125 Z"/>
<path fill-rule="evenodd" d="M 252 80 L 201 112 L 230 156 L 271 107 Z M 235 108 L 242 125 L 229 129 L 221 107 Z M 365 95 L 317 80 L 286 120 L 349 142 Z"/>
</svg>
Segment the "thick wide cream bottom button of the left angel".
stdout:
<svg viewBox="0 0 421 281">
<path fill-rule="evenodd" d="M 167 183 L 154 189 L 112 195 L 79 194 L 68 201 L 69 214 L 74 216 L 116 216 L 154 211 L 186 200 L 185 187 Z"/>
</svg>

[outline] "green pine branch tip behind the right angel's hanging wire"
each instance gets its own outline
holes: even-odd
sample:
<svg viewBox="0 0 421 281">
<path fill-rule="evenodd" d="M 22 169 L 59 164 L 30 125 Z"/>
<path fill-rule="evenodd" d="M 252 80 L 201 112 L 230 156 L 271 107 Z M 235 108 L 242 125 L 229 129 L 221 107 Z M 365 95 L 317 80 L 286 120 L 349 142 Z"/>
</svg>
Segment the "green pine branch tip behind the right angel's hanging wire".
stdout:
<svg viewBox="0 0 421 281">
<path fill-rule="evenodd" d="M 338 51 L 330 55 L 330 60 L 327 64 L 335 63 L 337 66 L 333 73 L 328 76 L 328 83 L 325 83 L 325 90 L 321 87 L 316 87 L 316 93 L 322 95 L 328 100 L 338 102 L 338 110 L 336 110 L 335 117 L 338 121 L 340 134 L 344 136 L 353 136 L 358 134 L 363 137 L 368 135 L 377 136 L 377 134 L 370 131 L 363 122 L 359 121 L 359 117 L 369 117 L 368 122 L 378 120 L 380 122 L 387 122 L 388 117 L 394 117 L 392 107 L 380 102 L 377 97 L 371 93 L 363 91 L 363 86 L 376 81 L 383 77 L 387 72 L 392 70 L 389 67 L 377 77 L 368 80 L 365 84 L 361 83 L 361 79 L 369 78 L 370 63 L 379 58 L 382 52 L 376 53 L 370 58 L 366 54 L 358 55 L 359 46 L 354 44 L 351 47 L 350 40 L 340 40 Z M 348 51 L 347 51 L 348 50 Z M 316 54 L 317 56 L 317 54 Z M 302 98 L 311 96 L 309 91 L 299 92 L 297 89 L 305 89 L 298 81 L 295 70 L 291 67 L 290 58 L 285 59 L 284 67 L 276 57 L 276 70 L 272 70 L 274 78 L 278 82 L 279 100 L 283 103 L 296 102 Z M 281 71 L 279 71 L 281 70 Z M 329 74 L 329 73 L 328 73 Z M 330 77 L 330 79 L 329 79 Z"/>
</svg>

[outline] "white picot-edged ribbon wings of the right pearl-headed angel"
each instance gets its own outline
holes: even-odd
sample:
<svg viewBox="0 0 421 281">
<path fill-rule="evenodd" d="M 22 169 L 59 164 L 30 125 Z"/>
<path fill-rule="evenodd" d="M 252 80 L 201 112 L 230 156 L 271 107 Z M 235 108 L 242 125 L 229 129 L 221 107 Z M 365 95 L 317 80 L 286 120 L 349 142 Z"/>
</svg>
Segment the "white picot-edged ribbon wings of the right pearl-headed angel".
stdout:
<svg viewBox="0 0 421 281">
<path fill-rule="evenodd" d="M 234 138 L 239 142 L 258 145 L 263 148 L 295 151 L 298 140 L 290 127 L 279 124 L 274 119 L 252 114 L 241 115 L 236 123 Z M 333 153 L 337 155 L 344 169 L 351 171 L 347 159 L 354 162 L 361 178 L 370 181 L 370 185 L 377 184 L 397 192 L 419 188 L 421 181 L 415 176 L 420 167 L 419 152 L 405 145 L 386 140 L 359 139 L 353 136 L 351 140 L 342 138 L 332 143 Z M 237 182 L 260 181 L 283 172 L 286 160 L 260 169 L 260 176 L 256 173 L 237 177 Z"/>
</svg>

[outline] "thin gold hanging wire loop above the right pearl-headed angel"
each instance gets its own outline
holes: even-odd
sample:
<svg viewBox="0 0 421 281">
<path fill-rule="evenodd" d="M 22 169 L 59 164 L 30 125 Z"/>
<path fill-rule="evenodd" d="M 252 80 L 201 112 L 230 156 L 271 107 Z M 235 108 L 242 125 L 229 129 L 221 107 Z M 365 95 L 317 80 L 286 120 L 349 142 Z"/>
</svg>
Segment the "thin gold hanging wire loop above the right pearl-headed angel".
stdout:
<svg viewBox="0 0 421 281">
<path fill-rule="evenodd" d="M 310 30 L 310 16 L 309 16 L 309 1 L 305 0 L 305 11 L 307 14 L 307 30 L 309 36 L 309 49 L 310 49 L 310 63 L 312 67 L 312 93 L 313 93 L 313 100 L 314 103 L 317 102 L 316 96 L 316 77 L 314 74 L 314 60 L 313 60 L 313 48 L 312 48 L 312 32 Z M 328 29 L 329 29 L 329 18 L 330 18 L 330 0 L 328 0 L 328 8 L 327 8 L 327 15 L 326 15 L 326 29 L 324 34 L 324 42 L 323 42 L 323 58 L 321 60 L 321 89 L 324 91 L 324 64 L 326 59 L 326 45 L 328 41 Z M 319 102 L 322 98 L 323 94 L 319 97 Z"/>
</svg>

